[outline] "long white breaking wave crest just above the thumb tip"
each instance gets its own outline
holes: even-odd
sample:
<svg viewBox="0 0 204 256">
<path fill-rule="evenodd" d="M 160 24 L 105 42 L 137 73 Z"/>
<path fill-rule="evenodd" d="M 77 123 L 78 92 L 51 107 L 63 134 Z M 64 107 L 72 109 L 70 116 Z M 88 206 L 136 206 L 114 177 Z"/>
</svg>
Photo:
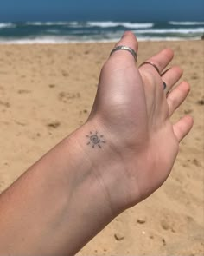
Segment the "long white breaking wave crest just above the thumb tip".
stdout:
<svg viewBox="0 0 204 256">
<path fill-rule="evenodd" d="M 88 25 L 92 27 L 101 27 L 101 28 L 112 28 L 122 26 L 124 28 L 135 29 L 135 28 L 152 28 L 154 23 L 120 23 L 120 22 L 87 22 Z"/>
</svg>

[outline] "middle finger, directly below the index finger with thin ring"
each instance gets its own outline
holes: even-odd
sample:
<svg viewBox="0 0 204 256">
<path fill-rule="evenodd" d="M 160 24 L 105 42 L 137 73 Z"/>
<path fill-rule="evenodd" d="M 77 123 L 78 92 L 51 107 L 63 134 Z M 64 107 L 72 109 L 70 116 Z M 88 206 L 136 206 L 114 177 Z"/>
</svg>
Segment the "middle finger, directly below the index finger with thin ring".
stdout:
<svg viewBox="0 0 204 256">
<path fill-rule="evenodd" d="M 162 75 L 163 82 L 165 82 L 167 85 L 165 92 L 168 92 L 169 89 L 171 89 L 175 85 L 175 83 L 179 81 L 181 77 L 182 77 L 182 69 L 180 69 L 177 66 L 172 67 L 171 69 L 168 69 L 167 71 L 165 71 L 165 73 L 163 73 Z"/>
</svg>

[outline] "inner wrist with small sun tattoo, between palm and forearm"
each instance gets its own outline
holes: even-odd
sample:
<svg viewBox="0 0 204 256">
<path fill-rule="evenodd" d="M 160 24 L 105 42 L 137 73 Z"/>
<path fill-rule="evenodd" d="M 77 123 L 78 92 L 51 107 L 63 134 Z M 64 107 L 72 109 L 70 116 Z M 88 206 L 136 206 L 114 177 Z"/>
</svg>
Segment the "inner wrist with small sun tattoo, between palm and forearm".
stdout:
<svg viewBox="0 0 204 256">
<path fill-rule="evenodd" d="M 74 145 L 73 153 L 75 151 L 79 165 L 75 168 L 74 184 L 79 187 L 87 184 L 94 190 L 94 200 L 103 201 L 103 207 L 107 207 L 112 218 L 130 207 L 129 183 L 124 181 L 128 180 L 124 159 L 100 121 L 87 121 L 67 140 Z"/>
</svg>

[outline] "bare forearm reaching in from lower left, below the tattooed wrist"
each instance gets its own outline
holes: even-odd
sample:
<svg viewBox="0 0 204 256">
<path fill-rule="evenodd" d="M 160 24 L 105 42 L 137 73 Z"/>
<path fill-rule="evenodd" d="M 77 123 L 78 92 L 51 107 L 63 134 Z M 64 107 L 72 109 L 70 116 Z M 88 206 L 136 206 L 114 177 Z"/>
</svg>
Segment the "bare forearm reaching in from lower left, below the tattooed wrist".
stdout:
<svg viewBox="0 0 204 256">
<path fill-rule="evenodd" d="M 114 218 L 93 170 L 106 166 L 106 149 L 86 145 L 91 130 L 61 141 L 1 195 L 0 255 L 73 255 Z"/>
</svg>

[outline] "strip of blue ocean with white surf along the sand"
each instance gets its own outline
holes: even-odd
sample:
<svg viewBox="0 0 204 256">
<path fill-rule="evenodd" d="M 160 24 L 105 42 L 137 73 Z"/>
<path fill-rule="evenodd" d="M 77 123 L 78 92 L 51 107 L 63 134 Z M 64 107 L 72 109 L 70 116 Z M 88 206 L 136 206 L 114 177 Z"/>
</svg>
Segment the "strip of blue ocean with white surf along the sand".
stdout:
<svg viewBox="0 0 204 256">
<path fill-rule="evenodd" d="M 0 23 L 0 43 L 88 43 L 117 41 L 131 30 L 139 41 L 198 40 L 204 22 L 25 22 Z"/>
</svg>

